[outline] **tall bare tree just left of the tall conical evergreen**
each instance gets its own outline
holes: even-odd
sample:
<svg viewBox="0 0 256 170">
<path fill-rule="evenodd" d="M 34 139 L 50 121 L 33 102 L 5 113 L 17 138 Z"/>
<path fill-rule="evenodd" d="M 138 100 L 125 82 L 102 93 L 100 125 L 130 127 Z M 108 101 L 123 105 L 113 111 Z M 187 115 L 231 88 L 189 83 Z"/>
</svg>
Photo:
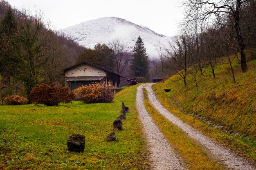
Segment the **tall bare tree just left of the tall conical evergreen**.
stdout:
<svg viewBox="0 0 256 170">
<path fill-rule="evenodd" d="M 124 43 L 120 38 L 115 38 L 109 42 L 109 46 L 115 52 L 115 71 L 117 74 L 121 74 L 128 63 L 128 55 L 125 53 Z"/>
</svg>

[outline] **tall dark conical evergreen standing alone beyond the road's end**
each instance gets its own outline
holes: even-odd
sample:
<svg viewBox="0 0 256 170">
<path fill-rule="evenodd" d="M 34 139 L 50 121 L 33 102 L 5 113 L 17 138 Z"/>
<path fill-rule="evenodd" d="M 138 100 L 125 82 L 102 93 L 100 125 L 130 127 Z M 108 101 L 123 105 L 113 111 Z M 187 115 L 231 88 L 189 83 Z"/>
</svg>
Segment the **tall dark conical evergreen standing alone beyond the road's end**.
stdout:
<svg viewBox="0 0 256 170">
<path fill-rule="evenodd" d="M 138 37 L 132 51 L 131 70 L 135 77 L 147 77 L 148 75 L 148 55 L 144 42 Z"/>
</svg>

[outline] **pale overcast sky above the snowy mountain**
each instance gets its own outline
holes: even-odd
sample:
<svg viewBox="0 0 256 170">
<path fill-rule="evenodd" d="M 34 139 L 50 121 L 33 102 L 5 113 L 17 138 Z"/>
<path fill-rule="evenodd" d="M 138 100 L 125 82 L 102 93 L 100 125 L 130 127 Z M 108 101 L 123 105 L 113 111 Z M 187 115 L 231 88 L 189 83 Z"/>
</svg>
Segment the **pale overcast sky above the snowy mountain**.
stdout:
<svg viewBox="0 0 256 170">
<path fill-rule="evenodd" d="M 166 36 L 175 35 L 182 18 L 179 0 L 7 0 L 12 7 L 43 11 L 55 30 L 115 16 Z"/>
</svg>

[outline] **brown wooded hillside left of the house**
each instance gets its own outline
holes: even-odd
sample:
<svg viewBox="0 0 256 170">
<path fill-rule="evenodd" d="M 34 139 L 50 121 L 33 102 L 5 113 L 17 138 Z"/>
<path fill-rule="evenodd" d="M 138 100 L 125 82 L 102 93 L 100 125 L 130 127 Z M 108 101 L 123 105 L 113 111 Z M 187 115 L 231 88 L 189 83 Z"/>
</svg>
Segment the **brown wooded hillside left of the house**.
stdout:
<svg viewBox="0 0 256 170">
<path fill-rule="evenodd" d="M 0 21 L 2 95 L 28 95 L 38 83 L 63 85 L 62 70 L 75 64 L 85 48 L 43 23 L 41 13 L 12 9 L 5 0 L 0 1 Z"/>
</svg>

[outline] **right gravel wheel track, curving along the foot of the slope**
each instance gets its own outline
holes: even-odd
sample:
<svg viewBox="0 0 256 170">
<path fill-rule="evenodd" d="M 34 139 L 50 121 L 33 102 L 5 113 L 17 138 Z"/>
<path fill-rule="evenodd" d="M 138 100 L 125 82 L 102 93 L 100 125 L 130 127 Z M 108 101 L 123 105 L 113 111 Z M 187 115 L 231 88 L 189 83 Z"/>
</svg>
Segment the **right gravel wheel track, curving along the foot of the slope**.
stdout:
<svg viewBox="0 0 256 170">
<path fill-rule="evenodd" d="M 152 105 L 157 109 L 157 111 L 166 117 L 171 123 L 175 124 L 179 128 L 181 128 L 184 132 L 186 132 L 191 138 L 195 141 L 198 141 L 204 148 L 208 149 L 211 154 L 219 159 L 220 162 L 227 165 L 229 169 L 235 170 L 256 170 L 255 166 L 252 166 L 247 161 L 236 157 L 229 150 L 224 148 L 223 146 L 216 144 L 209 137 L 202 135 L 197 130 L 193 129 L 191 126 L 185 124 L 180 119 L 175 117 L 172 113 L 170 113 L 162 104 L 157 100 L 155 93 L 153 92 L 151 86 L 153 84 L 145 84 L 145 88 L 148 91 L 148 97 Z M 140 86 L 141 87 L 141 86 Z M 143 100 L 143 98 L 137 98 L 137 100 Z M 139 111 L 139 110 L 138 110 Z M 140 112 L 140 111 L 139 111 Z"/>
</svg>

